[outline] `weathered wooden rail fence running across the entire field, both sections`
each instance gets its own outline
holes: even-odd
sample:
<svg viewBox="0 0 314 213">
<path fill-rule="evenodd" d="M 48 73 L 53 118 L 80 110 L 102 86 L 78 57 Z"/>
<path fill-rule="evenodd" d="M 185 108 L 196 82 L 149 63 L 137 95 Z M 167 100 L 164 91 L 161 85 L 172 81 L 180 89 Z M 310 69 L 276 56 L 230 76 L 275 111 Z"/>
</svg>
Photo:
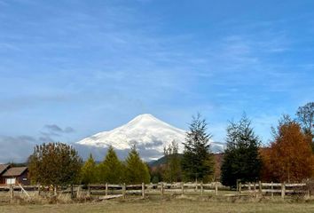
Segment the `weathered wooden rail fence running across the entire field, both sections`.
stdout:
<svg viewBox="0 0 314 213">
<path fill-rule="evenodd" d="M 10 197 L 12 200 L 14 194 L 27 196 L 33 195 L 51 196 L 57 194 L 71 194 L 72 198 L 85 198 L 97 196 L 98 199 L 111 199 L 116 197 L 125 198 L 128 195 L 140 195 L 143 198 L 147 194 L 157 194 L 164 196 L 166 194 L 191 194 L 191 195 L 218 195 L 224 191 L 224 195 L 280 195 L 285 198 L 287 194 L 302 193 L 310 196 L 310 191 L 306 189 L 306 184 L 280 184 L 280 183 L 247 183 L 237 186 L 237 191 L 229 191 L 229 187 L 221 185 L 219 182 L 208 184 L 203 183 L 159 183 L 159 184 L 139 184 L 139 185 L 70 185 L 67 187 L 53 188 L 39 185 L 6 185 L 0 186 L 0 194 Z M 227 191 L 227 193 L 225 193 Z"/>
</svg>

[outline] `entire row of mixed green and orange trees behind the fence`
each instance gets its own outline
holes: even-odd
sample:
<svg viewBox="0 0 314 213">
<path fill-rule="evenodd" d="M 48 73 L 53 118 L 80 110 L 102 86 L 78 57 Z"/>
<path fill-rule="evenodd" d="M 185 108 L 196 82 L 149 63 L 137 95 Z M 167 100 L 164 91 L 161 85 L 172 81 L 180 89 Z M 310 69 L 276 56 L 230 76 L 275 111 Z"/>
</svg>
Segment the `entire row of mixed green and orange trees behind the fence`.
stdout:
<svg viewBox="0 0 314 213">
<path fill-rule="evenodd" d="M 268 145 L 262 144 L 251 120 L 243 114 L 227 125 L 220 162 L 210 151 L 208 123 L 196 114 L 186 132 L 183 154 L 178 153 L 174 140 L 164 147 L 161 165 L 149 167 L 135 145 L 124 161 L 110 146 L 103 161 L 96 163 L 91 154 L 82 162 L 72 146 L 50 143 L 35 146 L 28 159 L 29 175 L 33 183 L 42 185 L 221 181 L 233 187 L 239 181 L 301 182 L 314 177 L 313 130 L 314 102 L 300 106 L 294 118 L 282 115 L 278 125 L 271 127 Z"/>
</svg>

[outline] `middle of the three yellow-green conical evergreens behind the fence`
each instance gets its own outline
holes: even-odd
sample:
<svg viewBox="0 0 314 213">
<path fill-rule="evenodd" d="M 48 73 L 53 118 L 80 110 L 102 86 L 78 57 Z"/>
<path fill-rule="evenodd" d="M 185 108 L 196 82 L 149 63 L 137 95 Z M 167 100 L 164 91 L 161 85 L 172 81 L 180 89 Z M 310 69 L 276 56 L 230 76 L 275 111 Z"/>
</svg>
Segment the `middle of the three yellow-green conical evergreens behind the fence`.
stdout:
<svg viewBox="0 0 314 213">
<path fill-rule="evenodd" d="M 123 182 L 123 165 L 115 154 L 113 146 L 109 146 L 104 161 L 98 165 L 98 178 L 100 183 L 121 184 Z"/>
</svg>

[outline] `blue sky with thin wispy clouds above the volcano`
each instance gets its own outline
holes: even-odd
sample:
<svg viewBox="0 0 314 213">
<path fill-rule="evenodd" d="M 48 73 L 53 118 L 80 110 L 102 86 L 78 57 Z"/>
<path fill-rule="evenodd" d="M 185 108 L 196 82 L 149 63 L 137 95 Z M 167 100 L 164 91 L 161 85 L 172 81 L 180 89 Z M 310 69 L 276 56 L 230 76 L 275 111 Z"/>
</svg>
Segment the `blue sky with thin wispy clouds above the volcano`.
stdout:
<svg viewBox="0 0 314 213">
<path fill-rule="evenodd" d="M 314 99 L 313 10 L 306 0 L 0 0 L 0 144 L 73 143 L 144 113 L 186 129 L 197 112 L 223 141 L 244 111 L 267 143 L 280 114 Z"/>
</svg>

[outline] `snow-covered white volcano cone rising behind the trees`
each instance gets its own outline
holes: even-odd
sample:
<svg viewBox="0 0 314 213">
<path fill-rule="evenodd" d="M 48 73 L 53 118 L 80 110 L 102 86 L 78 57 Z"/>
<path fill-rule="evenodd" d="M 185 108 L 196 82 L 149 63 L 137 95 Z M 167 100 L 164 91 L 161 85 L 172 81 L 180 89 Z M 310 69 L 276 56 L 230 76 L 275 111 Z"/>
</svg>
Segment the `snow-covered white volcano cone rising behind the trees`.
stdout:
<svg viewBox="0 0 314 213">
<path fill-rule="evenodd" d="M 115 128 L 114 130 L 102 131 L 89 138 L 77 142 L 77 145 L 106 148 L 114 146 L 117 150 L 129 149 L 136 144 L 141 153 L 162 156 L 164 146 L 175 140 L 179 146 L 179 153 L 183 152 L 185 130 L 177 129 L 166 122 L 155 118 L 152 114 L 140 114 L 130 122 Z M 213 152 L 222 152 L 223 143 L 211 143 Z"/>
</svg>

